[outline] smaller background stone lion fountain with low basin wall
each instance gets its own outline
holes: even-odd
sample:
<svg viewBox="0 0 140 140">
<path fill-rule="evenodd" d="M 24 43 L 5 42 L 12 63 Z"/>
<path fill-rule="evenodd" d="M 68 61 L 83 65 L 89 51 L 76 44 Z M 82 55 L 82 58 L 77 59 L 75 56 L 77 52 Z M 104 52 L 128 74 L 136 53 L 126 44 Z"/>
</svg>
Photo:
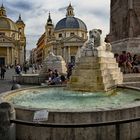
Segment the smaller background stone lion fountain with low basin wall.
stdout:
<svg viewBox="0 0 140 140">
<path fill-rule="evenodd" d="M 57 69 L 60 74 L 65 75 L 67 68 L 63 57 L 60 55 L 54 55 L 53 52 L 49 52 L 48 57 L 46 57 L 43 61 L 43 67 L 39 73 L 15 75 L 14 78 L 17 83 L 40 85 L 41 83 L 44 83 L 45 80 L 47 80 L 48 69 Z"/>
</svg>

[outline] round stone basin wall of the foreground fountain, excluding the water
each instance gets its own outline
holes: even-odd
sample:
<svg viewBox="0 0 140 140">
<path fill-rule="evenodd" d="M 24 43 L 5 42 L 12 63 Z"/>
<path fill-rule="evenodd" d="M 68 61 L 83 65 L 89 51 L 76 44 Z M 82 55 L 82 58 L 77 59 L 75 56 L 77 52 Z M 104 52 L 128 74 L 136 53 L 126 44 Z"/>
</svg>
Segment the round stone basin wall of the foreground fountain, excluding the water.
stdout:
<svg viewBox="0 0 140 140">
<path fill-rule="evenodd" d="M 140 94 L 139 88 L 125 87 Z M 33 87 L 20 89 L 16 91 L 3 93 L 2 99 L 9 101 L 9 98 L 25 90 L 45 89 L 46 87 Z M 122 88 L 123 89 L 123 88 Z M 127 93 L 126 93 L 127 94 Z M 97 123 L 122 119 L 131 119 L 140 117 L 140 95 L 135 102 L 124 104 L 117 107 L 95 107 L 90 109 L 64 109 L 46 108 L 49 112 L 48 123 Z M 27 106 L 14 105 L 17 119 L 33 121 L 34 112 L 42 108 L 33 108 Z M 44 109 L 44 108 L 43 108 Z M 17 125 L 17 139 L 25 140 L 114 140 L 115 126 L 97 127 L 97 128 L 38 128 L 23 125 Z M 120 127 L 121 139 L 132 140 L 140 137 L 140 123 L 134 122 L 123 124 Z"/>
</svg>

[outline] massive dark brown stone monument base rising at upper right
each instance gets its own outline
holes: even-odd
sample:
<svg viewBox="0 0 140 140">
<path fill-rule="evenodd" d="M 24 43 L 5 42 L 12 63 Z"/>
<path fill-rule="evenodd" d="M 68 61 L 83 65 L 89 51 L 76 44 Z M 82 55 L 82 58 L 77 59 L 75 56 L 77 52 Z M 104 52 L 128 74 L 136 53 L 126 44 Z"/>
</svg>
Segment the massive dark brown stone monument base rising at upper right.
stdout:
<svg viewBox="0 0 140 140">
<path fill-rule="evenodd" d="M 140 0 L 111 0 L 110 9 L 113 51 L 140 53 Z"/>
</svg>

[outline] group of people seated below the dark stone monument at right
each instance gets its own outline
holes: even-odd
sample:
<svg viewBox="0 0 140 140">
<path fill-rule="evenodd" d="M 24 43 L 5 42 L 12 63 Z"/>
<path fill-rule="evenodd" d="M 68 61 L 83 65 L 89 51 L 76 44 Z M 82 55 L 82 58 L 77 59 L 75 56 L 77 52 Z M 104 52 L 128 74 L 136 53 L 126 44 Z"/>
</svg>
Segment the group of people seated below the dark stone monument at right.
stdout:
<svg viewBox="0 0 140 140">
<path fill-rule="evenodd" d="M 139 73 L 140 57 L 137 54 L 132 55 L 130 52 L 122 51 L 121 54 L 114 54 L 116 61 L 123 73 Z"/>
</svg>

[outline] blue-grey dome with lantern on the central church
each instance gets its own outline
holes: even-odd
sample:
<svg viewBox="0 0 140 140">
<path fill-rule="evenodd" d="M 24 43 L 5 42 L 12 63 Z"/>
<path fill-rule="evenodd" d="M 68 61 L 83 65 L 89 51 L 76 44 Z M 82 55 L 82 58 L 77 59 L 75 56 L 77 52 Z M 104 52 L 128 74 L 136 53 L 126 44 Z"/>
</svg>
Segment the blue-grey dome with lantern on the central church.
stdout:
<svg viewBox="0 0 140 140">
<path fill-rule="evenodd" d="M 66 17 L 61 19 L 55 26 L 55 30 L 62 30 L 62 29 L 80 29 L 80 30 L 87 30 L 86 24 L 74 17 L 73 7 L 71 4 L 67 8 Z"/>
</svg>

